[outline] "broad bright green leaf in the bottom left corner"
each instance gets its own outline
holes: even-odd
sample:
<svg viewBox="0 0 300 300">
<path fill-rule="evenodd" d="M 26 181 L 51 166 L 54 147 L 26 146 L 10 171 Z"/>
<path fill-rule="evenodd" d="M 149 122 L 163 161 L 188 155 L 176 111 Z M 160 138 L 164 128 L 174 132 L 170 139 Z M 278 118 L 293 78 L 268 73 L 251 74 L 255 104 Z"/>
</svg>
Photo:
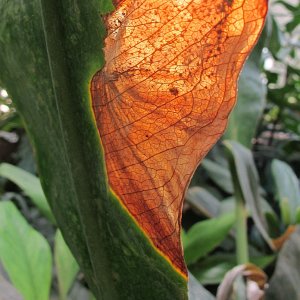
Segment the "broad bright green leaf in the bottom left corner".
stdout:
<svg viewBox="0 0 300 300">
<path fill-rule="evenodd" d="M 25 300 L 48 300 L 51 250 L 11 202 L 0 202 L 0 260 Z"/>
</svg>

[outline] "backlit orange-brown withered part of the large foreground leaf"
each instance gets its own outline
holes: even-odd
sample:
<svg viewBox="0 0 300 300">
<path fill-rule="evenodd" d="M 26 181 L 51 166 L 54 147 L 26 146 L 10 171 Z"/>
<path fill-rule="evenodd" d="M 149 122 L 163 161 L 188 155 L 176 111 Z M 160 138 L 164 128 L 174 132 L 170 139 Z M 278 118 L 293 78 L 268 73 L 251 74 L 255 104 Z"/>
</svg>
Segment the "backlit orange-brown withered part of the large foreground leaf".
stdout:
<svg viewBox="0 0 300 300">
<path fill-rule="evenodd" d="M 123 0 L 107 18 L 93 109 L 112 190 L 186 274 L 184 192 L 218 140 L 266 0 Z"/>
</svg>

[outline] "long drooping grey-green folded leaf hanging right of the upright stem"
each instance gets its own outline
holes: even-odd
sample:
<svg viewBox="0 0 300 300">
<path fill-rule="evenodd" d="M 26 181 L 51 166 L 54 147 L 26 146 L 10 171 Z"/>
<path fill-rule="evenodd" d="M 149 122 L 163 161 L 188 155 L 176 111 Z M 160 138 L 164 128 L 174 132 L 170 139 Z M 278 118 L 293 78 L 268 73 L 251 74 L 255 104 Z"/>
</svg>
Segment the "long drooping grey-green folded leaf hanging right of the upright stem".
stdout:
<svg viewBox="0 0 300 300">
<path fill-rule="evenodd" d="M 259 195 L 259 178 L 252 153 L 236 141 L 226 140 L 224 145 L 228 149 L 235 185 L 241 191 L 257 229 L 273 249 L 273 243 L 268 234 L 267 222 L 262 210 L 261 197 Z"/>
</svg>

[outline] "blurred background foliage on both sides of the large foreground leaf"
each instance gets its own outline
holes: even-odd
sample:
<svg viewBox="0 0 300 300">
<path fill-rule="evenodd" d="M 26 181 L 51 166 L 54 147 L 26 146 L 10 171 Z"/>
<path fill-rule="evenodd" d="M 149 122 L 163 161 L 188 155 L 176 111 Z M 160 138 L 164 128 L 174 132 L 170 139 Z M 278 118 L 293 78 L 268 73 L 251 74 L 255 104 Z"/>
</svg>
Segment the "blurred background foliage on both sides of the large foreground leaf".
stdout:
<svg viewBox="0 0 300 300">
<path fill-rule="evenodd" d="M 273 1 L 270 7 L 240 77 L 227 131 L 186 193 L 185 259 L 195 280 L 209 291 L 201 291 L 207 299 L 217 293 L 219 299 L 230 294 L 256 299 L 249 296 L 249 282 L 258 280 L 245 276 L 244 269 L 236 278 L 246 281 L 224 279 L 235 266 L 250 262 L 259 267 L 252 274 L 261 278 L 264 271 L 268 277 L 267 299 L 296 299 L 300 293 L 300 3 Z M 5 87 L 0 161 L 0 296 L 92 299 L 57 229 L 34 152 Z M 224 280 L 234 288 L 217 292 Z"/>
</svg>

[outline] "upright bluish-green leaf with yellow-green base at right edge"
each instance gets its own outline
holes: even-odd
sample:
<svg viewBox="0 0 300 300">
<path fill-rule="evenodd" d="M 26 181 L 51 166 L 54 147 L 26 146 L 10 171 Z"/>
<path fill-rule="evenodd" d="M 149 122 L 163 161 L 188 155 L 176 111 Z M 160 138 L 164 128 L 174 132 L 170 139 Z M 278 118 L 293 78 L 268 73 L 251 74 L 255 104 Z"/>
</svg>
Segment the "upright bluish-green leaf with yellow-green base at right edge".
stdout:
<svg viewBox="0 0 300 300">
<path fill-rule="evenodd" d="M 300 208 L 299 180 L 293 169 L 278 159 L 272 161 L 271 170 L 282 219 L 285 225 L 295 224 L 297 209 Z"/>
</svg>

